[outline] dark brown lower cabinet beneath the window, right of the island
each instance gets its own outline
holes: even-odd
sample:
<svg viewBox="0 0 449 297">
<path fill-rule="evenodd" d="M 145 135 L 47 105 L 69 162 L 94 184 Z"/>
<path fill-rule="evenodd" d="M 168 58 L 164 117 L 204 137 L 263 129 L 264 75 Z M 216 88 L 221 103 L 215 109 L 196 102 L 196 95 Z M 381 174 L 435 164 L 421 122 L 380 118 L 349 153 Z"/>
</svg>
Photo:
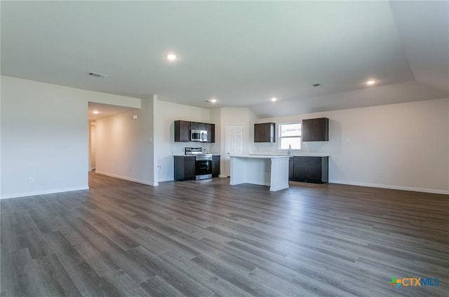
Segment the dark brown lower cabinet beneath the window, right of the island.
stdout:
<svg viewBox="0 0 449 297">
<path fill-rule="evenodd" d="M 327 183 L 329 181 L 329 157 L 295 156 L 290 158 L 288 172 L 290 181 Z"/>
</svg>

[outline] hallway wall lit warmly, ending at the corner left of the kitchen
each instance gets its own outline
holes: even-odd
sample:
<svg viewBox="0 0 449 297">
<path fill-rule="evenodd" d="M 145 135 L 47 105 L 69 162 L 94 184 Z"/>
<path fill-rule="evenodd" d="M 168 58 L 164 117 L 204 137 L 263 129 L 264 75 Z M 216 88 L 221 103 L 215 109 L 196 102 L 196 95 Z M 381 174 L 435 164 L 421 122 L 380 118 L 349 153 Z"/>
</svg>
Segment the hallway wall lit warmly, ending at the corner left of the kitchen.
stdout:
<svg viewBox="0 0 449 297">
<path fill-rule="evenodd" d="M 157 186 L 153 133 L 156 102 L 156 97 L 145 98 L 141 109 L 95 121 L 95 172 Z M 133 119 L 133 115 L 138 119 Z"/>
</svg>

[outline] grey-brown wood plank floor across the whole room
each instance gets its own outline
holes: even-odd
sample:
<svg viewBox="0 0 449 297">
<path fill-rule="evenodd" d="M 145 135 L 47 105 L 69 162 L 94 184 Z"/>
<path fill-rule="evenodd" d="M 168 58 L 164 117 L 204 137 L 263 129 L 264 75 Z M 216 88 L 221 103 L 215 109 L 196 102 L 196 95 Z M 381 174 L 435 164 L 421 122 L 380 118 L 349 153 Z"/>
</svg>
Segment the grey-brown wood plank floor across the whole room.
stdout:
<svg viewBox="0 0 449 297">
<path fill-rule="evenodd" d="M 448 195 L 100 174 L 90 186 L 1 200 L 1 297 L 449 295 Z"/>
</svg>

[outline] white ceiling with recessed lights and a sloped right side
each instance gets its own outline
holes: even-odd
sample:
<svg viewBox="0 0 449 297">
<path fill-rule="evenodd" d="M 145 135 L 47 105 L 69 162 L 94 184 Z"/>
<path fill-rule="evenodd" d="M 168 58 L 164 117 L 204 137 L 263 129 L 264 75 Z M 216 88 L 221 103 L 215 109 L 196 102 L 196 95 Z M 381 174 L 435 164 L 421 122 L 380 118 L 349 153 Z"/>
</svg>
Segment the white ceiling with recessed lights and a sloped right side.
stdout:
<svg viewBox="0 0 449 297">
<path fill-rule="evenodd" d="M 1 74 L 258 117 L 449 97 L 449 2 L 1 1 Z"/>
</svg>

